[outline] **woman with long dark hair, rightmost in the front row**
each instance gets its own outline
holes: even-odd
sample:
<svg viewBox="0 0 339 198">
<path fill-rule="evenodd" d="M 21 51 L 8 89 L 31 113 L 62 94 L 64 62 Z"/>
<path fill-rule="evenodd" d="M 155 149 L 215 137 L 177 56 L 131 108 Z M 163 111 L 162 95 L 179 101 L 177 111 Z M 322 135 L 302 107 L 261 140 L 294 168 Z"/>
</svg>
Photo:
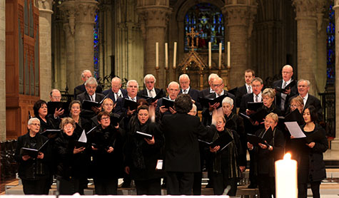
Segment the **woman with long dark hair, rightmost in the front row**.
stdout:
<svg viewBox="0 0 339 198">
<path fill-rule="evenodd" d="M 307 185 L 310 184 L 313 197 L 320 197 L 319 187 L 322 179 L 326 178 L 323 152 L 328 150 L 328 140 L 325 130 L 318 125 L 317 110 L 310 105 L 303 111 L 305 125 L 301 126 L 305 140 L 291 138 L 295 149 L 292 152 L 298 162 L 298 197 L 307 197 Z M 298 144 L 298 145 L 295 145 Z"/>
</svg>

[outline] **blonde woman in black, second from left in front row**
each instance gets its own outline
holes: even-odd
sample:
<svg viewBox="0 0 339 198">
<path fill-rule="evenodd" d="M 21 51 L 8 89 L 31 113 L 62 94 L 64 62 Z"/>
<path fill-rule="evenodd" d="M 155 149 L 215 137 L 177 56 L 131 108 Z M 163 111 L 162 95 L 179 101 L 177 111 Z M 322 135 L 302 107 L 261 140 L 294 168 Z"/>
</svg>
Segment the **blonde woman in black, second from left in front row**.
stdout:
<svg viewBox="0 0 339 198">
<path fill-rule="evenodd" d="M 88 172 L 88 146 L 76 147 L 79 135 L 74 132 L 76 123 L 72 118 L 63 118 L 60 137 L 56 138 L 57 189 L 59 194 L 84 194 L 83 181 Z"/>
</svg>

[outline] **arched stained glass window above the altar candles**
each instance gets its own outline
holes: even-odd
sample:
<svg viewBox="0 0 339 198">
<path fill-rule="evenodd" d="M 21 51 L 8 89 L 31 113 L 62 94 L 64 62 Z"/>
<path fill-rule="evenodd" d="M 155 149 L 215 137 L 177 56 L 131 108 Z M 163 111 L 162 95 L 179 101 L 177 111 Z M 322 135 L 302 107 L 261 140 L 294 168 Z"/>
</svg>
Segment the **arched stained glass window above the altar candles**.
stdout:
<svg viewBox="0 0 339 198">
<path fill-rule="evenodd" d="M 187 11 L 185 16 L 185 51 L 190 50 L 186 33 L 189 33 L 192 27 L 199 33 L 197 51 L 208 51 L 208 42 L 212 43 L 212 51 L 218 51 L 218 43 L 224 43 L 223 14 L 217 6 L 206 3 L 196 4 Z"/>
</svg>

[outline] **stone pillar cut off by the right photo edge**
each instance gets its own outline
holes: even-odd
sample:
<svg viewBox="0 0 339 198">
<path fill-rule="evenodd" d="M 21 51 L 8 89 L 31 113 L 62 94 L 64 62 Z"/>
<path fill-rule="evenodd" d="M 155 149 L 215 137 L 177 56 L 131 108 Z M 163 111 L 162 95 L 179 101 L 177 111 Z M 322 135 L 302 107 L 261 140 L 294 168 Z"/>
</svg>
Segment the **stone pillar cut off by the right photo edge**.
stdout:
<svg viewBox="0 0 339 198">
<path fill-rule="evenodd" d="M 334 1 L 335 41 L 339 41 L 339 0 Z M 339 71 L 339 42 L 335 43 L 335 71 Z M 339 72 L 335 72 L 335 139 L 331 142 L 331 150 L 339 150 Z"/>
</svg>

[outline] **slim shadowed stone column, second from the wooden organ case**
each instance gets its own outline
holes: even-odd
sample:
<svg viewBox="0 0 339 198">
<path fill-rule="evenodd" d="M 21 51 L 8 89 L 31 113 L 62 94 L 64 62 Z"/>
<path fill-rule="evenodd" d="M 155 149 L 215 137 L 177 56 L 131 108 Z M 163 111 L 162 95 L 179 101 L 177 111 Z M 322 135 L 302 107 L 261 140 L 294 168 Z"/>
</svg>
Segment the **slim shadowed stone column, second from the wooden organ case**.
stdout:
<svg viewBox="0 0 339 198">
<path fill-rule="evenodd" d="M 75 58 L 74 58 L 74 32 L 75 32 L 75 15 L 76 7 L 74 1 L 65 1 L 60 6 L 63 12 L 64 32 L 65 32 L 65 48 L 66 48 L 66 83 L 69 88 L 69 93 L 74 92 L 74 88 L 78 83 L 76 79 L 80 74 L 75 73 Z M 78 77 L 79 78 L 79 77 Z"/>
</svg>

